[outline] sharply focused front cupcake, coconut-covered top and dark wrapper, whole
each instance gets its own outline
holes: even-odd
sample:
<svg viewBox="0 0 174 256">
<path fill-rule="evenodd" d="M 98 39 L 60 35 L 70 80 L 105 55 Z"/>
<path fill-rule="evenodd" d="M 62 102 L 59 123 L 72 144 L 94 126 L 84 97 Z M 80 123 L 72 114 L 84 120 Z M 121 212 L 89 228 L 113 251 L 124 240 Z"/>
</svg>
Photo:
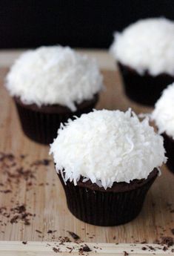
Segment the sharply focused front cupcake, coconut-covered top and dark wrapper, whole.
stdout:
<svg viewBox="0 0 174 256">
<path fill-rule="evenodd" d="M 97 226 L 133 220 L 165 161 L 163 138 L 130 110 L 69 120 L 50 154 L 71 213 Z"/>
</svg>

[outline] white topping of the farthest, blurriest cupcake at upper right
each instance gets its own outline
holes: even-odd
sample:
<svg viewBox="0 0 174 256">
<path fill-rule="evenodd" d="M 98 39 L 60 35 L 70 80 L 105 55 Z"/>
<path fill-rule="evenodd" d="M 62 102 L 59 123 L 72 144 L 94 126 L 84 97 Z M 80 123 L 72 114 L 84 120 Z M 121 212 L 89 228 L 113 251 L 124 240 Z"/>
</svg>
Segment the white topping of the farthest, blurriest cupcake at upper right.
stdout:
<svg viewBox="0 0 174 256">
<path fill-rule="evenodd" d="M 174 22 L 165 18 L 142 19 L 114 34 L 111 52 L 123 65 L 143 75 L 174 75 Z"/>
</svg>

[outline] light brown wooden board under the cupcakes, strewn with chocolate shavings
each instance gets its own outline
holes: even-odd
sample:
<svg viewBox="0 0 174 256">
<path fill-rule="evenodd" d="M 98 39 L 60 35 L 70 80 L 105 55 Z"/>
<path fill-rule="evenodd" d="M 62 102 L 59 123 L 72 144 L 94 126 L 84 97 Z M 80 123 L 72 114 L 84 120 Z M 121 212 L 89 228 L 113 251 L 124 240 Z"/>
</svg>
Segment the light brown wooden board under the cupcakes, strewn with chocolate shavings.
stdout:
<svg viewBox="0 0 174 256">
<path fill-rule="evenodd" d="M 7 160 L 0 161 L 0 254 L 15 255 L 16 252 L 16 255 L 24 255 L 25 251 L 33 252 L 29 255 L 55 254 L 53 249 L 49 246 L 45 249 L 45 246 L 49 242 L 60 241 L 62 237 L 74 241 L 67 231 L 75 232 L 90 246 L 102 243 L 105 251 L 101 253 L 97 250 L 99 255 L 124 255 L 124 251 L 129 251 L 130 255 L 135 252 L 138 255 L 169 253 L 171 250 L 164 252 L 157 248 L 155 252 L 150 249 L 142 251 L 141 243 L 154 243 L 161 240 L 161 236 L 174 237 L 171 231 L 174 229 L 174 175 L 165 166 L 162 168 L 162 175 L 147 194 L 141 214 L 130 223 L 99 227 L 77 220 L 67 209 L 53 162 L 48 165 L 47 161 L 43 162 L 45 159 L 52 160 L 48 156 L 49 146 L 29 140 L 21 131 L 13 100 L 3 87 L 6 73 L 7 69 L 0 69 L 0 152 L 13 154 L 14 157 L 8 156 Z M 133 108 L 137 114 L 152 111 L 152 108 L 144 108 L 124 96 L 118 72 L 103 70 L 103 73 L 107 90 L 101 93 L 98 109 L 126 111 Z M 20 210 L 18 206 L 25 209 Z M 20 219 L 21 214 L 26 213 L 27 217 Z M 16 215 L 20 216 L 15 220 Z M 21 241 L 30 242 L 24 245 Z M 135 246 L 137 251 L 131 252 L 133 245 L 130 243 L 138 243 Z M 79 252 L 72 253 L 77 255 Z"/>
</svg>

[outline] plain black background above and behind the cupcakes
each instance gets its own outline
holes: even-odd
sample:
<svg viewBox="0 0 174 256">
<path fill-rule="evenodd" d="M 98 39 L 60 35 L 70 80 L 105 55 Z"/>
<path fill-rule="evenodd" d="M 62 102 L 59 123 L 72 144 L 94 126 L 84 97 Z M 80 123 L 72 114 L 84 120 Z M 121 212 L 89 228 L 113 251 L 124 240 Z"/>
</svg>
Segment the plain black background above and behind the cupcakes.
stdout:
<svg viewBox="0 0 174 256">
<path fill-rule="evenodd" d="M 174 19 L 174 0 L 0 0 L 0 48 L 109 47 L 137 19 Z"/>
</svg>

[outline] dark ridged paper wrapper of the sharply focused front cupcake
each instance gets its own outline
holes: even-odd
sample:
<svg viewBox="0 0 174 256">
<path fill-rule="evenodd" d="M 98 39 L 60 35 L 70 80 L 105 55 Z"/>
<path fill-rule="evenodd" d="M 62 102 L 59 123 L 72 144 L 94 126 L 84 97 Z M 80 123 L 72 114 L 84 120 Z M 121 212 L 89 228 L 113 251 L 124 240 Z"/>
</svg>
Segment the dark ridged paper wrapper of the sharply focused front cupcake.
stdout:
<svg viewBox="0 0 174 256">
<path fill-rule="evenodd" d="M 69 181 L 65 185 L 61 174 L 58 177 L 64 187 L 68 209 L 75 217 L 96 226 L 118 226 L 139 214 L 156 176 L 140 188 L 123 192 L 94 191 L 74 186 Z"/>
</svg>

